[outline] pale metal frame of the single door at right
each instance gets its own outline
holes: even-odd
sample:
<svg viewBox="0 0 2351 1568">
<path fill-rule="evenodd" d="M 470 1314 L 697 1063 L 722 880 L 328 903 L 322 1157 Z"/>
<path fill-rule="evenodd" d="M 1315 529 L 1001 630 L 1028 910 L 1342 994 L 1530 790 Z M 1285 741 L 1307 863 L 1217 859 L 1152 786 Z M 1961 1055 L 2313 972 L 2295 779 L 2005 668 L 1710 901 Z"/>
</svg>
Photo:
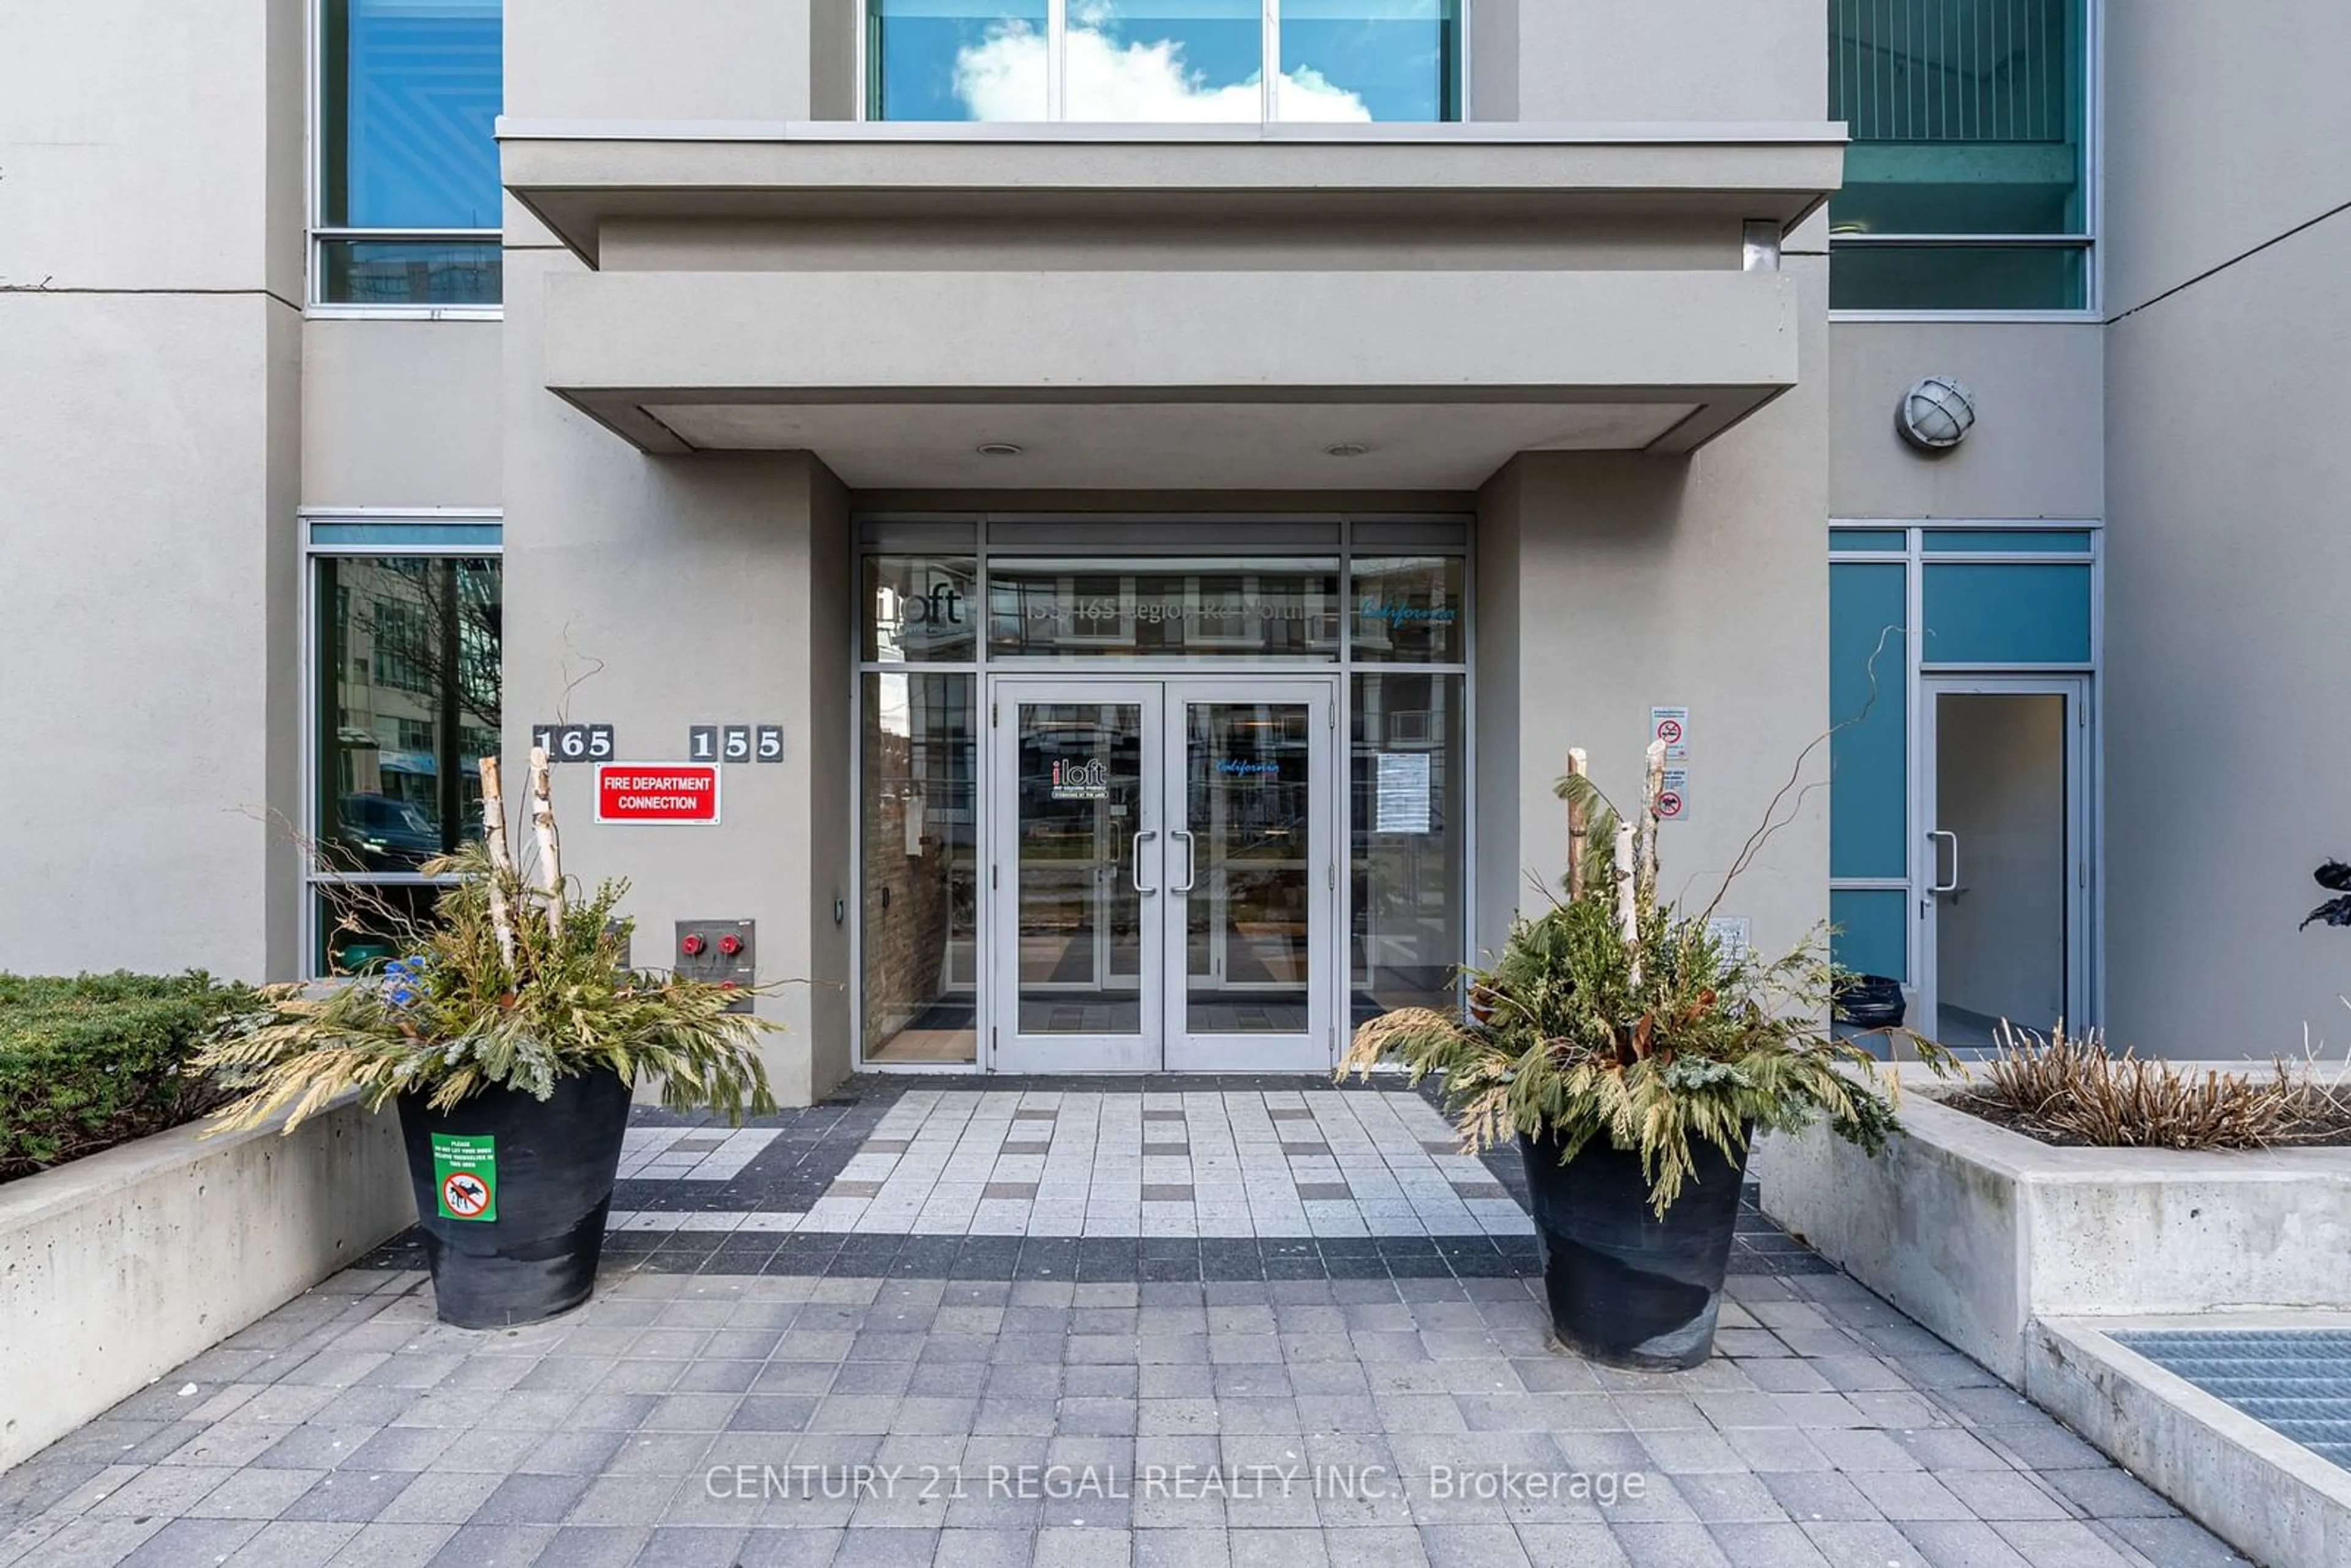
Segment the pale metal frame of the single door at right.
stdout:
<svg viewBox="0 0 2351 1568">
<path fill-rule="evenodd" d="M 2064 832 L 2067 858 L 2074 863 L 2067 877 L 2067 954 L 2064 954 L 2064 1018 L 2078 1030 L 2092 1018 L 2092 910 L 2097 884 L 2095 844 L 2095 719 L 2090 712 L 2090 675 L 1921 675 L 1914 722 L 1916 757 L 1911 778 L 1916 780 L 1916 823 L 1911 839 L 1911 931 L 1918 976 L 1918 1016 L 1911 1020 L 1928 1039 L 1940 1039 L 1942 1030 L 1942 903 L 1935 886 L 1942 882 L 1940 844 L 1940 790 L 1942 790 L 1942 698 L 1949 696 L 2057 696 L 2067 703 L 2064 726 Z M 1961 846 L 1965 853 L 1965 846 Z M 2045 1034 L 2055 1018 L 2017 1018 L 2020 1027 Z"/>
</svg>

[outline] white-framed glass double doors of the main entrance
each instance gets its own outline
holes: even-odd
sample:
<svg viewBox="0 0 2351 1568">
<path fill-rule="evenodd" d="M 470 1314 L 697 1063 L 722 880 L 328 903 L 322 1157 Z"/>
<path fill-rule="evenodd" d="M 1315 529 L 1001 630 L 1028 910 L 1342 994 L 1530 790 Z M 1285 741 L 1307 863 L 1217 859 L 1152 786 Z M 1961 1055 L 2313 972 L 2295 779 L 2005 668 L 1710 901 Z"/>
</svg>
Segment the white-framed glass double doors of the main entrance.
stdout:
<svg viewBox="0 0 2351 1568">
<path fill-rule="evenodd" d="M 1331 679 L 990 689 L 999 1072 L 1335 1060 Z"/>
</svg>

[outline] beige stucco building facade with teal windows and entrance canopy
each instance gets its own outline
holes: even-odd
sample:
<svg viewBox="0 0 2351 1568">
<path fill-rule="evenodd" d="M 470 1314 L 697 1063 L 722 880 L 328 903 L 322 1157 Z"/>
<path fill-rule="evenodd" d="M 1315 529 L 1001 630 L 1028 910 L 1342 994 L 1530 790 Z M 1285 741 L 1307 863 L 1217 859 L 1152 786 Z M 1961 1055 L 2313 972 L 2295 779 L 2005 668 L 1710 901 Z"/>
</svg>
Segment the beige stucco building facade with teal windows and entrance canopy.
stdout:
<svg viewBox="0 0 2351 1568">
<path fill-rule="evenodd" d="M 2351 1030 L 2339 7 L 9 35 L 0 966 L 364 969 L 543 741 L 788 1098 L 1314 1070 L 1665 726 L 1667 889 L 1942 1039 Z"/>
</svg>

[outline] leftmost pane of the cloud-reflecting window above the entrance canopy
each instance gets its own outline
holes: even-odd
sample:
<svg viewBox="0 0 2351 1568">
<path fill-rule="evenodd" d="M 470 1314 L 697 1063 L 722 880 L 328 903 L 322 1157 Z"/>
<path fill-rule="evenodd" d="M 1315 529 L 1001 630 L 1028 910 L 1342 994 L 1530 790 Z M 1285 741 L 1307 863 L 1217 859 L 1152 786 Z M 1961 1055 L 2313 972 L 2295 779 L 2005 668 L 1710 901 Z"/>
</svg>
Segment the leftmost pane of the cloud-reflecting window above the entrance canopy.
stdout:
<svg viewBox="0 0 2351 1568">
<path fill-rule="evenodd" d="M 872 0 L 875 120 L 1044 120 L 1044 0 Z"/>
</svg>

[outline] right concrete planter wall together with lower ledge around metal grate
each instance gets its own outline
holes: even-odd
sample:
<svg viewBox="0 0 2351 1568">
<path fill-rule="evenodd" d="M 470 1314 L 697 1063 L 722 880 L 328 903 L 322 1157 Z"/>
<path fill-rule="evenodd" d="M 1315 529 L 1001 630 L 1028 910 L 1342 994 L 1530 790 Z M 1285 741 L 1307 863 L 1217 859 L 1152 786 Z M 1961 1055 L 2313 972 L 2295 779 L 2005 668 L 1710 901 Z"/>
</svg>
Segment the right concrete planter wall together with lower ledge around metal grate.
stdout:
<svg viewBox="0 0 2351 1568">
<path fill-rule="evenodd" d="M 1773 1140 L 1763 1211 L 2255 1561 L 2351 1568 L 2351 1476 L 2116 1338 L 2351 1324 L 2351 1147 L 2050 1147 L 1916 1084 L 1902 1124 Z"/>
</svg>

